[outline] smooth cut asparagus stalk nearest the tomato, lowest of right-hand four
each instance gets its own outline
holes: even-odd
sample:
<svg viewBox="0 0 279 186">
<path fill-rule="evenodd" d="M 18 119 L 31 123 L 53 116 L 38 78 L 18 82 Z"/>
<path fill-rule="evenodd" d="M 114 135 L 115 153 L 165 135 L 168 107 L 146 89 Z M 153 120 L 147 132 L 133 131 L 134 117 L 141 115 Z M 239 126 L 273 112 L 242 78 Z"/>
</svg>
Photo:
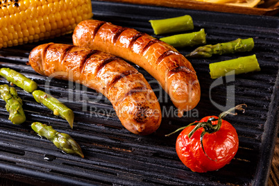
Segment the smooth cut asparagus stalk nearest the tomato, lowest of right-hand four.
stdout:
<svg viewBox="0 0 279 186">
<path fill-rule="evenodd" d="M 260 71 L 260 65 L 257 62 L 255 54 L 253 56 L 245 56 L 233 60 L 214 62 L 209 65 L 209 68 L 212 79 L 226 75 Z"/>
</svg>

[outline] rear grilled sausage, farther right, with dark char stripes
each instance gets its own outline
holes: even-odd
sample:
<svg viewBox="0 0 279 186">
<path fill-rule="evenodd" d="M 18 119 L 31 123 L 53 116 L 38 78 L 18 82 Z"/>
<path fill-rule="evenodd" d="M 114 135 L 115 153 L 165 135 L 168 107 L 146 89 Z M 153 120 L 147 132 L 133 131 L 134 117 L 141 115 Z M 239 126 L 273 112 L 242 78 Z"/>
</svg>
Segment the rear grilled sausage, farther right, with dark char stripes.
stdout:
<svg viewBox="0 0 279 186">
<path fill-rule="evenodd" d="M 169 94 L 178 117 L 200 101 L 201 88 L 191 63 L 174 47 L 133 28 L 85 20 L 74 31 L 75 45 L 120 56 L 143 67 Z"/>
</svg>

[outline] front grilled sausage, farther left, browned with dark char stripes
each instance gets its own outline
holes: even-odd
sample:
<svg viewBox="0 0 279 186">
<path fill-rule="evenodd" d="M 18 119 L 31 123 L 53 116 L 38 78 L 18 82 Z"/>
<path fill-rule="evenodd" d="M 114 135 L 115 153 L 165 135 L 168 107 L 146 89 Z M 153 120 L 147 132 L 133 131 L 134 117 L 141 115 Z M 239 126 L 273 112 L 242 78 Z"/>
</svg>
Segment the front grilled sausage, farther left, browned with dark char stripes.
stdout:
<svg viewBox="0 0 279 186">
<path fill-rule="evenodd" d="M 161 110 L 149 83 L 124 60 L 69 44 L 42 44 L 29 56 L 37 73 L 75 81 L 106 96 L 121 124 L 130 132 L 149 135 L 158 129 Z"/>
</svg>

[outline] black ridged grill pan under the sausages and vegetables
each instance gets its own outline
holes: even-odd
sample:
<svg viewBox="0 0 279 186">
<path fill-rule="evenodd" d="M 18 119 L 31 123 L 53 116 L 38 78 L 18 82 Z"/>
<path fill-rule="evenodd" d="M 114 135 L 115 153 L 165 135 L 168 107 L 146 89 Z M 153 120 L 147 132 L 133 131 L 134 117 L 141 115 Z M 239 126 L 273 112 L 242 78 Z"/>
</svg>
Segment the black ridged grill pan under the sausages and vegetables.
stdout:
<svg viewBox="0 0 279 186">
<path fill-rule="evenodd" d="M 135 6 L 128 3 L 92 1 L 94 19 L 135 28 L 153 35 L 149 19 L 191 15 L 194 31 L 205 28 L 208 44 L 253 37 L 253 51 L 189 59 L 201 83 L 198 115 L 187 113 L 178 118 L 169 97 L 156 91 L 160 85 L 144 69 L 137 68 L 151 82 L 162 107 L 163 119 L 158 131 L 137 136 L 123 126 L 111 103 L 104 96 L 83 85 L 50 79 L 26 65 L 29 52 L 38 44 L 58 42 L 72 44 L 71 34 L 0 50 L 0 67 L 10 67 L 32 78 L 40 90 L 49 91 L 74 110 L 74 129 L 67 121 L 55 117 L 33 96 L 15 87 L 24 101 L 26 122 L 20 126 L 8 120 L 5 102 L 0 100 L 0 176 L 33 185 L 266 185 L 278 131 L 279 104 L 279 19 L 278 17 L 237 15 L 179 8 Z M 154 37 L 159 37 L 155 36 Z M 160 36 L 161 37 L 161 36 Z M 187 54 L 193 47 L 178 49 Z M 208 64 L 256 54 L 261 71 L 235 76 L 235 80 L 210 90 Z M 223 78 L 225 81 L 225 78 Z M 8 82 L 0 77 L 0 84 Z M 239 151 L 219 171 L 198 174 L 178 159 L 176 135 L 164 135 L 207 115 L 221 112 L 210 101 L 225 104 L 227 87 L 235 87 L 235 104 L 246 103 L 245 113 L 228 116 L 239 135 Z M 168 108 L 165 109 L 165 108 Z M 171 111 L 169 111 L 171 110 Z M 194 112 L 194 111 L 193 111 Z M 85 158 L 62 153 L 51 142 L 31 129 L 33 121 L 51 124 L 68 133 L 81 145 Z"/>
</svg>

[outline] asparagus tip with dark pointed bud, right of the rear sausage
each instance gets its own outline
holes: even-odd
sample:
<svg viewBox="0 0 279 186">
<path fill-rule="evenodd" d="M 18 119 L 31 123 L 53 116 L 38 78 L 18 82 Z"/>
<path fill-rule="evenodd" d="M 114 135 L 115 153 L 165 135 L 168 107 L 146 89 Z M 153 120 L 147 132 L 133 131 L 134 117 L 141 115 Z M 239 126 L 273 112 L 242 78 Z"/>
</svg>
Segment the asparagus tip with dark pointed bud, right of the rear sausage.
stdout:
<svg viewBox="0 0 279 186">
<path fill-rule="evenodd" d="M 186 55 L 186 57 L 201 57 L 201 58 L 210 58 L 213 54 L 222 55 L 223 53 L 236 53 L 251 51 L 254 47 L 253 38 L 240 39 L 223 42 L 218 44 L 208 44 L 202 47 L 196 48 L 194 51 Z"/>
</svg>

